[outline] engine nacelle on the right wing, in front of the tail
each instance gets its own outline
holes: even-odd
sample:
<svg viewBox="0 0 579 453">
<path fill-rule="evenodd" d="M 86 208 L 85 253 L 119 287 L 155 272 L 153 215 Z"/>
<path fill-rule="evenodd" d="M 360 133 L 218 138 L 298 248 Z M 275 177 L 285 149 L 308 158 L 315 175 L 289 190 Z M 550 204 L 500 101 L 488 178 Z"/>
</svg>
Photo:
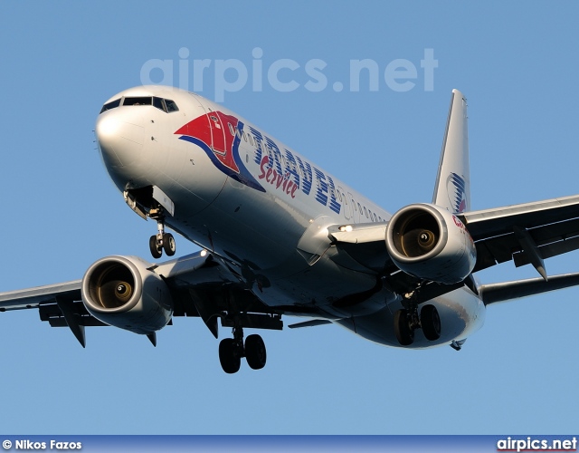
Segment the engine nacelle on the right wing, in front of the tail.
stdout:
<svg viewBox="0 0 579 453">
<path fill-rule="evenodd" d="M 388 222 L 386 248 L 406 274 L 441 284 L 464 280 L 477 249 L 460 219 L 436 205 L 403 207 Z"/>
</svg>

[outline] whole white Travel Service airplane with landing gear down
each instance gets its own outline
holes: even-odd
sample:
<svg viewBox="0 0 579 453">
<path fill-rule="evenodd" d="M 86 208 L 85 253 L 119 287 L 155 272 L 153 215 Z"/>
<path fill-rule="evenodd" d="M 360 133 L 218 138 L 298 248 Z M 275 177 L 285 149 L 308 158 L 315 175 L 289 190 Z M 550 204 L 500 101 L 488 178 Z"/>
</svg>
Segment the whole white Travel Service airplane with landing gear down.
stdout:
<svg viewBox="0 0 579 453">
<path fill-rule="evenodd" d="M 547 275 L 545 259 L 579 248 L 579 196 L 470 210 L 467 102 L 451 105 L 430 203 L 394 215 L 265 131 L 194 92 L 147 85 L 104 103 L 96 139 L 105 168 L 139 217 L 157 223 L 154 260 L 176 254 L 170 228 L 200 251 L 168 261 L 112 255 L 79 280 L 0 294 L 0 312 L 38 309 L 68 326 L 146 335 L 174 316 L 198 317 L 219 338 L 223 371 L 265 366 L 259 334 L 282 316 L 327 323 L 392 347 L 460 350 L 489 304 L 579 284 Z M 403 162 L 401 162 L 403 165 Z M 513 261 L 539 276 L 480 284 Z"/>
</svg>

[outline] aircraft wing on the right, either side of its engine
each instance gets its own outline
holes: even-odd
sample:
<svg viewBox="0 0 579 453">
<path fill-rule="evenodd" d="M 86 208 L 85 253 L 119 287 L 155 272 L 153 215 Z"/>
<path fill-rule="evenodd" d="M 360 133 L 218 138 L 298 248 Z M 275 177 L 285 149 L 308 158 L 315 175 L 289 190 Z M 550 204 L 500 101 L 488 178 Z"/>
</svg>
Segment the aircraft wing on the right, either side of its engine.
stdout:
<svg viewBox="0 0 579 453">
<path fill-rule="evenodd" d="M 579 249 L 579 196 L 457 214 L 477 246 L 473 272 L 513 260 L 533 264 Z M 366 268 L 392 265 L 383 244 L 387 222 L 330 226 L 338 250 Z"/>
</svg>

